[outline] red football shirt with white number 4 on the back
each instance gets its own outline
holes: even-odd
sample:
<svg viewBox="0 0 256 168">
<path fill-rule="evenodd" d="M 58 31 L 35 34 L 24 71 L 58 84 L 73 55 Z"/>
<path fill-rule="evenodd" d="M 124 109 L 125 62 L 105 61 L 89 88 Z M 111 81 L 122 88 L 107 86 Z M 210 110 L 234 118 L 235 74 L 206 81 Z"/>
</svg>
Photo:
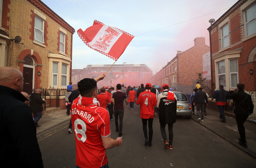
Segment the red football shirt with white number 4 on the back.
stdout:
<svg viewBox="0 0 256 168">
<path fill-rule="evenodd" d="M 140 104 L 141 118 L 154 118 L 154 106 L 156 106 L 157 103 L 154 93 L 152 93 L 150 90 L 141 92 L 136 103 L 137 105 Z"/>
</svg>

